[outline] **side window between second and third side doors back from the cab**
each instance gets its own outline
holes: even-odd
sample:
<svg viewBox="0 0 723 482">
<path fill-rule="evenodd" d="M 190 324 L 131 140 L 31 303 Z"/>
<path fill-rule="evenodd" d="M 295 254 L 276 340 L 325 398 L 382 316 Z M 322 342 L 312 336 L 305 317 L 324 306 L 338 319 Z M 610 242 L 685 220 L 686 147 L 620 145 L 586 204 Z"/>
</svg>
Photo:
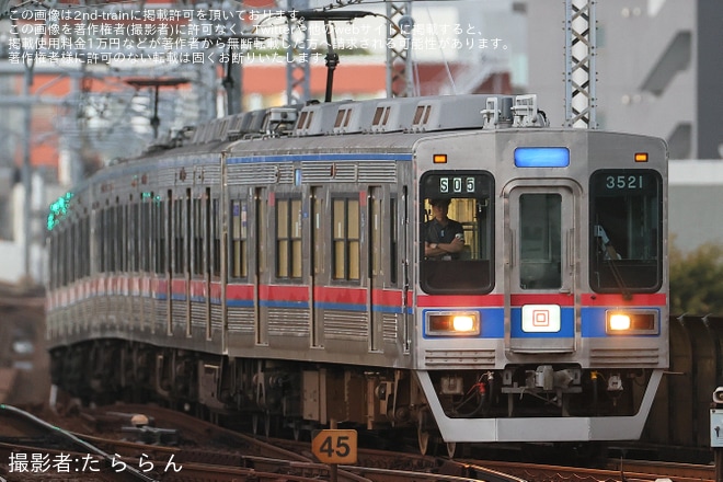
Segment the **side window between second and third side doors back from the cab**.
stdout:
<svg viewBox="0 0 723 482">
<path fill-rule="evenodd" d="M 301 277 L 301 199 L 276 199 L 276 276 Z"/>
</svg>

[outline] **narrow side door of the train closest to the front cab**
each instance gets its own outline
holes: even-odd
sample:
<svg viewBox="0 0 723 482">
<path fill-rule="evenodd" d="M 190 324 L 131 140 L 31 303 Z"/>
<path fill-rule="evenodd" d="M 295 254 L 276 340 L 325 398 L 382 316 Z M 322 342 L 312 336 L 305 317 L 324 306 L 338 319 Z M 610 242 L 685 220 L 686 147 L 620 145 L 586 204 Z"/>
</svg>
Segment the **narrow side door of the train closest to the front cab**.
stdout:
<svg viewBox="0 0 723 482">
<path fill-rule="evenodd" d="M 385 275 L 382 266 L 386 246 L 382 241 L 382 198 L 381 187 L 369 187 L 367 193 L 367 275 L 368 275 L 368 313 L 369 313 L 369 349 L 378 352 L 382 349 L 383 313 L 382 290 L 385 287 Z"/>
</svg>

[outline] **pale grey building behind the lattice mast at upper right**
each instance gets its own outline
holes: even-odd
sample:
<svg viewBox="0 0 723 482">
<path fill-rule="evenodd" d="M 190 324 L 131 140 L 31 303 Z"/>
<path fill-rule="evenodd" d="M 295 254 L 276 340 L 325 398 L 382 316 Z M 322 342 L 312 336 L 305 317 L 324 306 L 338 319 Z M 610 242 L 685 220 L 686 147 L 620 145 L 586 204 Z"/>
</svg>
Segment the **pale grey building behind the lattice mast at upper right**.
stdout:
<svg viewBox="0 0 723 482">
<path fill-rule="evenodd" d="M 564 9 L 528 0 L 529 89 L 553 123 L 564 122 Z M 667 140 L 672 159 L 723 154 L 723 2 L 597 1 L 600 128 Z"/>
</svg>

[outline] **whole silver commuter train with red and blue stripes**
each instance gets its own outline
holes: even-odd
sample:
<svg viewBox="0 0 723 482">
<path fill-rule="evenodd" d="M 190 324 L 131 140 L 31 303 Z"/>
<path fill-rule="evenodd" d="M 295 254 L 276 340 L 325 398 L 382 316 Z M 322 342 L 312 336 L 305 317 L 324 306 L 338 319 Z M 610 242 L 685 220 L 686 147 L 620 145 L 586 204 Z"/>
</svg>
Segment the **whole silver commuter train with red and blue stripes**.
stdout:
<svg viewBox="0 0 723 482">
<path fill-rule="evenodd" d="M 667 161 L 533 94 L 184 128 L 50 206 L 53 382 L 422 452 L 635 439 L 670 358 Z"/>
</svg>

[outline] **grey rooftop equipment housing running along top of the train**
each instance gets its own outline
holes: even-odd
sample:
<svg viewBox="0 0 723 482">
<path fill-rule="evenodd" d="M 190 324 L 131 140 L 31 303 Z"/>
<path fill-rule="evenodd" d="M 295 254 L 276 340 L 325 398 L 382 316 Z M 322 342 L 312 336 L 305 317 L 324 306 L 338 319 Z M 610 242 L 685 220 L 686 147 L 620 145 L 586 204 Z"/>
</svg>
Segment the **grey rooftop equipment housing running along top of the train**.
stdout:
<svg viewBox="0 0 723 482">
<path fill-rule="evenodd" d="M 500 127 L 543 127 L 535 95 L 438 95 L 367 101 L 311 102 L 236 114 L 185 127 L 151 145 L 145 157 L 169 149 L 214 150 L 239 140 L 425 134 Z M 386 145 L 379 140 L 380 145 Z"/>
</svg>

